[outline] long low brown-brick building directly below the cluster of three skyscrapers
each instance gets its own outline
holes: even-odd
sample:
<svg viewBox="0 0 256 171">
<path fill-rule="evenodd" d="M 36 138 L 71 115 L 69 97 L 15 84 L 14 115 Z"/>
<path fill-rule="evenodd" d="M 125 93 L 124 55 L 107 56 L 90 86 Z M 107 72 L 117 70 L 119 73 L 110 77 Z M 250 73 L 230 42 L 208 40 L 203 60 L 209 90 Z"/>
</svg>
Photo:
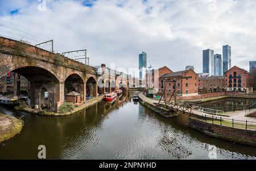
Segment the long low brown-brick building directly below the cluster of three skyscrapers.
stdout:
<svg viewBox="0 0 256 171">
<path fill-rule="evenodd" d="M 199 93 L 213 93 L 225 91 L 224 76 L 199 77 Z"/>
</svg>

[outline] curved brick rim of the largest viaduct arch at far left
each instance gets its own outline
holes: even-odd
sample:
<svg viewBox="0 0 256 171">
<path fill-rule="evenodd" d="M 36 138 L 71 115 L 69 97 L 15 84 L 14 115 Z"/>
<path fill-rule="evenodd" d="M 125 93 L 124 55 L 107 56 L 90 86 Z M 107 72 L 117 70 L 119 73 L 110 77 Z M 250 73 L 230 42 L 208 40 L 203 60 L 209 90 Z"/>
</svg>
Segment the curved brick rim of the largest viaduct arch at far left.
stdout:
<svg viewBox="0 0 256 171">
<path fill-rule="evenodd" d="M 57 74 L 55 72 L 53 72 L 51 69 L 49 69 L 49 68 L 47 68 L 47 67 L 45 67 L 43 65 L 39 65 L 39 64 L 35 64 L 35 65 L 18 65 L 18 66 L 15 65 L 15 66 L 13 66 L 11 68 L 8 68 L 8 69 L 6 68 L 4 70 L 2 69 L 2 67 L 3 66 L 0 66 L 0 78 L 5 76 L 9 72 L 12 72 L 15 69 L 26 68 L 26 67 L 36 67 L 36 68 L 41 68 L 41 69 L 44 69 L 44 70 L 48 71 L 49 73 L 51 73 L 57 79 L 57 81 L 60 82 L 60 80 L 61 80 L 59 77 L 57 77 Z"/>
</svg>

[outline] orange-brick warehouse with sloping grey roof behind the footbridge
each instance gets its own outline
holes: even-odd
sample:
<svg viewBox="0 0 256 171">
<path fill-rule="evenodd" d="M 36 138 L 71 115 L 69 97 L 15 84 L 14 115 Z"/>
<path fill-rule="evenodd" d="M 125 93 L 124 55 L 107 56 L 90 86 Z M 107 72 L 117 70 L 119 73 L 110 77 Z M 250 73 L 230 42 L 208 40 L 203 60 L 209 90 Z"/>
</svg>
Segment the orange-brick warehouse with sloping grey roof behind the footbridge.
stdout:
<svg viewBox="0 0 256 171">
<path fill-rule="evenodd" d="M 198 95 L 198 77 L 192 69 L 164 74 L 159 78 L 159 92 L 163 92 L 164 88 L 166 87 L 168 95 L 172 94 L 174 91 L 174 82 L 164 82 L 164 80 L 174 79 L 176 79 L 177 95 L 181 97 L 191 97 Z"/>
</svg>

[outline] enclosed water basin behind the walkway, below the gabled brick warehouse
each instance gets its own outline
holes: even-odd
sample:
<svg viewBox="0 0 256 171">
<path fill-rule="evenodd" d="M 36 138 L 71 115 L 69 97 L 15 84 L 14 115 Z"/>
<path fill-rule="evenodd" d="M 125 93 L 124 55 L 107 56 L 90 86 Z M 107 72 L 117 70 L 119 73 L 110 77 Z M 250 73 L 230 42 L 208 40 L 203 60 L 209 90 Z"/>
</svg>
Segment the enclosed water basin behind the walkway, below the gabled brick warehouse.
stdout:
<svg viewBox="0 0 256 171">
<path fill-rule="evenodd" d="M 216 109 L 222 110 L 225 112 L 228 111 L 237 111 L 244 110 L 254 105 L 256 103 L 256 99 L 249 98 L 225 98 L 217 101 L 201 103 L 201 107 L 205 107 L 208 109 Z"/>
</svg>

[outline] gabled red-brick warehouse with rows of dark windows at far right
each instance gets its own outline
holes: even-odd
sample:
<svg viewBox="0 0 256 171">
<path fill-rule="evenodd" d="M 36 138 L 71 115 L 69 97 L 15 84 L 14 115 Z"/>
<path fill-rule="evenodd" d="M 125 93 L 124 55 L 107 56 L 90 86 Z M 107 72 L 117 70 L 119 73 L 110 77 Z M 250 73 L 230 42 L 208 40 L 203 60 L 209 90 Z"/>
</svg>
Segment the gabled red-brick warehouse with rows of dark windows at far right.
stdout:
<svg viewBox="0 0 256 171">
<path fill-rule="evenodd" d="M 233 66 L 225 72 L 225 89 L 226 91 L 243 91 L 246 93 L 253 92 L 251 74 L 245 69 Z"/>
</svg>

